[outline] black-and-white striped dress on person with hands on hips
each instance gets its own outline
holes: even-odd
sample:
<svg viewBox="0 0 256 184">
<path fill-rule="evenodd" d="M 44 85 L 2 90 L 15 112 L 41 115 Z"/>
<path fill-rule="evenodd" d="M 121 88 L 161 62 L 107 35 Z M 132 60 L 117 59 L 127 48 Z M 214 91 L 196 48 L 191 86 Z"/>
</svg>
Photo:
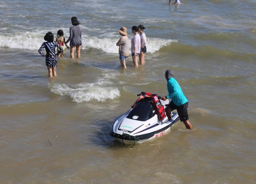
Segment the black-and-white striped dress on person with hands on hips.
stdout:
<svg viewBox="0 0 256 184">
<path fill-rule="evenodd" d="M 45 56 L 44 53 L 42 53 L 43 49 L 46 49 L 46 65 L 49 67 L 55 67 L 57 66 L 57 57 L 55 54 L 55 48 L 59 48 L 59 51 L 57 53 L 57 55 L 59 55 L 63 49 L 62 47 L 59 46 L 59 44 L 56 41 L 52 41 L 52 42 L 44 42 L 42 43 L 40 49 L 38 50 L 38 52 L 42 55 Z"/>
</svg>

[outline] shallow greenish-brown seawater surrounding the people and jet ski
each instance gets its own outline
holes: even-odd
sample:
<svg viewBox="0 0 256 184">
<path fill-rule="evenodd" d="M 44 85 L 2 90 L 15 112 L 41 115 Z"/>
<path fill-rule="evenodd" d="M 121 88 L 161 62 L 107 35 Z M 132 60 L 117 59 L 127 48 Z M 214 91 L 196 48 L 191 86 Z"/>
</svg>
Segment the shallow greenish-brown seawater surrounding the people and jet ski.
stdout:
<svg viewBox="0 0 256 184">
<path fill-rule="evenodd" d="M 255 1 L 0 1 L 1 183 L 255 183 Z M 42 6 L 47 4 L 46 6 Z M 61 8 L 60 8 L 61 7 Z M 81 21 L 48 78 L 44 35 Z M 11 24 L 10 24 L 11 23 Z M 144 66 L 120 67 L 117 29 L 143 24 Z M 193 130 L 124 147 L 109 135 L 141 91 L 175 72 Z"/>
</svg>

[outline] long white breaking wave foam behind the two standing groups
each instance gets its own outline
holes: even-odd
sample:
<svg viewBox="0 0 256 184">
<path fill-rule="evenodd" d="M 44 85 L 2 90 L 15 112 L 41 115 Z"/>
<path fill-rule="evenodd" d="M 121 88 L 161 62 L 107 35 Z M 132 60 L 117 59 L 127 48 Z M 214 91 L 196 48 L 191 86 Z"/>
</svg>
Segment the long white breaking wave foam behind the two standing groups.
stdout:
<svg viewBox="0 0 256 184">
<path fill-rule="evenodd" d="M 67 32 L 68 30 L 65 31 L 65 33 Z M 7 47 L 11 49 L 38 50 L 42 42 L 44 42 L 44 36 L 45 31 L 18 32 L 11 34 L 3 33 L 0 34 L 0 47 Z M 65 37 L 67 38 L 68 36 Z M 98 49 L 102 50 L 105 53 L 117 54 L 118 47 L 116 46 L 116 42 L 118 41 L 118 39 L 119 37 L 116 38 L 114 37 L 114 35 L 112 38 L 98 38 L 83 35 L 82 49 Z M 169 45 L 171 42 L 177 41 L 172 39 L 147 38 L 147 52 L 154 53 L 160 50 L 162 47 Z"/>
</svg>

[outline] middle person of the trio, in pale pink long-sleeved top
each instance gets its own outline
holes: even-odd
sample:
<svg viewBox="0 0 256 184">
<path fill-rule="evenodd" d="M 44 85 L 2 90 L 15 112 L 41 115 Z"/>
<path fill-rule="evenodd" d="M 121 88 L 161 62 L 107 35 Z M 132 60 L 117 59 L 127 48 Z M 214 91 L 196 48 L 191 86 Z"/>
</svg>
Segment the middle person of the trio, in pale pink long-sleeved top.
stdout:
<svg viewBox="0 0 256 184">
<path fill-rule="evenodd" d="M 137 26 L 132 27 L 132 32 L 134 34 L 134 37 L 132 39 L 131 51 L 132 51 L 134 66 L 138 66 L 138 56 L 140 54 L 140 47 L 141 47 L 140 35 L 138 31 L 139 31 L 139 28 Z"/>
</svg>

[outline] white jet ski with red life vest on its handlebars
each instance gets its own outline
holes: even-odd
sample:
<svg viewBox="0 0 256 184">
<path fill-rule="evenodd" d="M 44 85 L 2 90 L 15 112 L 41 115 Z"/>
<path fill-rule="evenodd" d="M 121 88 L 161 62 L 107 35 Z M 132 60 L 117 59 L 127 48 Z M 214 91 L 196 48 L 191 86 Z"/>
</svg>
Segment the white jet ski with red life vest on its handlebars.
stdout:
<svg viewBox="0 0 256 184">
<path fill-rule="evenodd" d="M 160 100 L 157 94 L 141 92 L 132 108 L 119 117 L 111 126 L 110 135 L 126 147 L 134 147 L 156 137 L 163 136 L 178 120 L 178 113 L 173 112 L 168 120 L 165 105 L 169 100 Z"/>
</svg>

